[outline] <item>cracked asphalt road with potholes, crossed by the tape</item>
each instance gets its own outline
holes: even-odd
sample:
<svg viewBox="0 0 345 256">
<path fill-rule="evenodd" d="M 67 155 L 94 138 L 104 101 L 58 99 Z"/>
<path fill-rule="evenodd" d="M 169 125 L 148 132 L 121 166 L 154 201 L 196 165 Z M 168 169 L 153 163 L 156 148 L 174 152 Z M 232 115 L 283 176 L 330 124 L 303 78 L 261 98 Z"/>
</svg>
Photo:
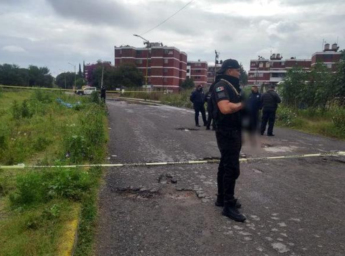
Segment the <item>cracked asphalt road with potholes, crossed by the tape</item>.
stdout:
<svg viewBox="0 0 345 256">
<path fill-rule="evenodd" d="M 219 157 L 194 112 L 107 101 L 109 162 Z M 201 116 L 200 116 L 201 120 Z M 202 122 L 201 122 L 202 123 Z M 261 136 L 243 157 L 345 151 L 345 142 L 289 129 Z M 241 164 L 245 223 L 214 205 L 217 164 L 109 168 L 99 196 L 98 255 L 345 255 L 345 158 Z"/>
</svg>

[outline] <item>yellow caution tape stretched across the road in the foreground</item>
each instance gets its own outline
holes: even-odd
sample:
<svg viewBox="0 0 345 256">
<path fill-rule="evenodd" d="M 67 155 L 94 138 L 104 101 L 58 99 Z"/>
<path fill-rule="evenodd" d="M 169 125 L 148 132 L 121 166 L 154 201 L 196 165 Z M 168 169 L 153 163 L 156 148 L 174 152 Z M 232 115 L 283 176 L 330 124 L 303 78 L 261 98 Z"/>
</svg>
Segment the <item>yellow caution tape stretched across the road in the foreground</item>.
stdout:
<svg viewBox="0 0 345 256">
<path fill-rule="evenodd" d="M 289 155 L 289 156 L 270 156 L 270 157 L 257 157 L 257 158 L 240 158 L 240 162 L 254 161 L 254 160 L 267 160 L 267 159 L 281 159 L 281 158 L 302 158 L 302 157 L 317 157 L 317 156 L 335 156 L 344 155 L 345 151 L 331 151 L 317 154 L 304 154 L 304 155 Z M 178 164 L 214 164 L 219 163 L 218 159 L 211 160 L 195 160 L 195 161 L 175 161 L 175 162 L 156 162 L 156 163 L 124 163 L 124 164 L 79 164 L 79 165 L 0 165 L 0 169 L 23 169 L 23 168 L 77 168 L 77 167 L 135 167 L 135 166 L 158 166 L 158 165 L 178 165 Z"/>
</svg>

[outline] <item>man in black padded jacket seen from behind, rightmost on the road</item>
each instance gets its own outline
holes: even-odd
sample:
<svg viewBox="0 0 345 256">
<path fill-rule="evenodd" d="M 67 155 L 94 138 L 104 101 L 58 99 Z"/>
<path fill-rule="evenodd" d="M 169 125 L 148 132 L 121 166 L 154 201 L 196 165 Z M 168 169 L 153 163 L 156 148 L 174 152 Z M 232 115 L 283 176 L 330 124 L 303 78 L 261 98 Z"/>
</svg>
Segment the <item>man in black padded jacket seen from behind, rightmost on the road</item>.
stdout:
<svg viewBox="0 0 345 256">
<path fill-rule="evenodd" d="M 261 95 L 260 101 L 262 106 L 261 135 L 264 135 L 268 121 L 267 136 L 274 136 L 276 110 L 278 103 L 281 102 L 279 95 L 274 91 L 274 85 L 268 85 L 268 91 Z"/>
</svg>

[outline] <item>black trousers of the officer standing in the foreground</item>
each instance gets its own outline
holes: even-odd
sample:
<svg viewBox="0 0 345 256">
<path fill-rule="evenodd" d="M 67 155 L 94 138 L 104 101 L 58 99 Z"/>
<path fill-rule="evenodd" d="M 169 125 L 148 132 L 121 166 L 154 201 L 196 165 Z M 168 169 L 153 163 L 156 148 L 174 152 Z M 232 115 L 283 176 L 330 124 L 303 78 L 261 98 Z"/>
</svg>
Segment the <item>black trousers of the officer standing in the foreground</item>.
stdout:
<svg viewBox="0 0 345 256">
<path fill-rule="evenodd" d="M 216 138 L 221 155 L 217 173 L 218 195 L 223 195 L 224 201 L 233 201 L 235 184 L 240 173 L 241 131 L 217 129 Z"/>
</svg>

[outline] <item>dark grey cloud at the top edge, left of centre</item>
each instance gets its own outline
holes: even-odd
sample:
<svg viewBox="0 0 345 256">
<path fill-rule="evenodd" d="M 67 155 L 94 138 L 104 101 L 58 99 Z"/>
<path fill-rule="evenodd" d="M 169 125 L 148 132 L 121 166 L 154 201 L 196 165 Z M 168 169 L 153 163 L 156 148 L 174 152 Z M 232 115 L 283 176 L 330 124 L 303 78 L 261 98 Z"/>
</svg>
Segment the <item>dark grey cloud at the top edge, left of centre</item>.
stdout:
<svg viewBox="0 0 345 256">
<path fill-rule="evenodd" d="M 84 23 L 132 28 L 139 22 L 139 16 L 119 1 L 47 0 L 47 2 L 60 16 Z"/>
</svg>

